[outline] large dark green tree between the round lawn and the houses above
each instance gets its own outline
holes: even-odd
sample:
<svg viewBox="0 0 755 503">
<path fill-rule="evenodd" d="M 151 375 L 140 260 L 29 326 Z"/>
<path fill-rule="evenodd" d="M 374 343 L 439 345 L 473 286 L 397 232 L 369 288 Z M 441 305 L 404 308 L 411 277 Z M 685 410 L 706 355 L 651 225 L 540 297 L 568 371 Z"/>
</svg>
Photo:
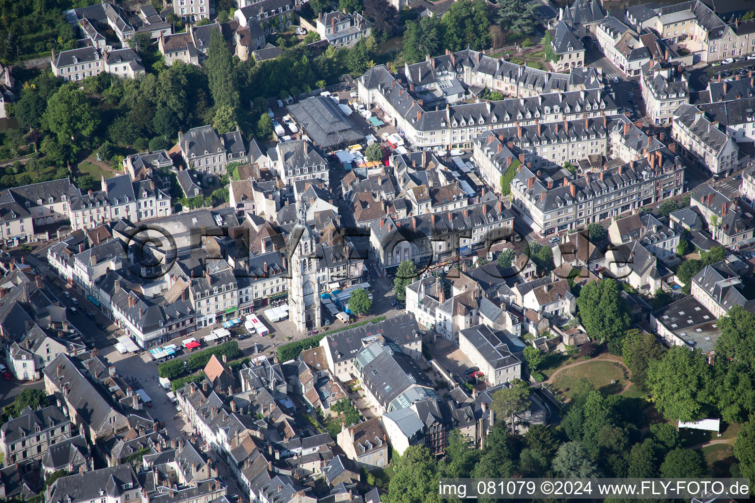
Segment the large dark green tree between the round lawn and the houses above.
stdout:
<svg viewBox="0 0 755 503">
<path fill-rule="evenodd" d="M 587 334 L 600 342 L 621 336 L 629 328 L 629 308 L 621 297 L 621 285 L 614 279 L 591 281 L 582 287 L 577 307 Z"/>
</svg>

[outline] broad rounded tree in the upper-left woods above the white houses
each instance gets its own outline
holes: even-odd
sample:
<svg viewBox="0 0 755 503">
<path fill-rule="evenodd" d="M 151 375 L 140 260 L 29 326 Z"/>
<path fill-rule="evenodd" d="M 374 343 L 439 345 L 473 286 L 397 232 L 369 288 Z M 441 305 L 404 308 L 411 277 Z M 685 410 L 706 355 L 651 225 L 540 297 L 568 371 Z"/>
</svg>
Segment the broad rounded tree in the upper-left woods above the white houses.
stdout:
<svg viewBox="0 0 755 503">
<path fill-rule="evenodd" d="M 48 101 L 42 115 L 44 127 L 65 145 L 75 145 L 75 137 L 91 138 L 100 118 L 83 90 L 66 84 Z"/>
</svg>

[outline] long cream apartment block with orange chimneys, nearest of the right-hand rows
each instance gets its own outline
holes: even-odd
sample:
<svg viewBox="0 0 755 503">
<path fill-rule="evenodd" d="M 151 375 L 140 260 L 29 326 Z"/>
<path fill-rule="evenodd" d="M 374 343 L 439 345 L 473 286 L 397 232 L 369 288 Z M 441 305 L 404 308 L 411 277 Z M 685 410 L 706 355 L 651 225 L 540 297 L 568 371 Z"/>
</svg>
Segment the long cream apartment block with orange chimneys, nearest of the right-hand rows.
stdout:
<svg viewBox="0 0 755 503">
<path fill-rule="evenodd" d="M 684 167 L 662 150 L 598 173 L 538 176 L 522 167 L 511 182 L 513 205 L 540 235 L 576 230 L 683 192 Z"/>
</svg>

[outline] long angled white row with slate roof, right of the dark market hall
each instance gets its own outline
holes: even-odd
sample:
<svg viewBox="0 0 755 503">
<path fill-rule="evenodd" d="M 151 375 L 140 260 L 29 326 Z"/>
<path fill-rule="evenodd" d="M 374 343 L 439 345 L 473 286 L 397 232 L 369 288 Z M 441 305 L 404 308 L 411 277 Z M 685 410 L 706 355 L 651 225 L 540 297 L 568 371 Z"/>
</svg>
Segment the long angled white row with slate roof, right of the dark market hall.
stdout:
<svg viewBox="0 0 755 503">
<path fill-rule="evenodd" d="M 521 126 L 612 115 L 618 106 L 602 89 L 583 89 L 485 103 L 447 104 L 426 111 L 385 66 L 374 66 L 357 81 L 359 100 L 380 106 L 386 118 L 415 146 L 471 148 L 479 133 L 494 127 Z"/>
</svg>

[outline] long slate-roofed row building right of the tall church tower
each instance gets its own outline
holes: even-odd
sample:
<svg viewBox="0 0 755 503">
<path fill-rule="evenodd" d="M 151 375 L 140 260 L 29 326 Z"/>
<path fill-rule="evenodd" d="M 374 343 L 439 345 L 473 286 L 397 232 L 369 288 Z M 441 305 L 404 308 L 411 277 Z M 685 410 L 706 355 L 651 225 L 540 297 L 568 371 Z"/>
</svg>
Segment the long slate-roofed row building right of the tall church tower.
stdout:
<svg viewBox="0 0 755 503">
<path fill-rule="evenodd" d="M 483 202 L 448 213 L 424 213 L 404 219 L 390 216 L 371 222 L 370 258 L 378 270 L 397 268 L 488 247 L 513 234 L 513 213 L 491 194 Z"/>
</svg>

